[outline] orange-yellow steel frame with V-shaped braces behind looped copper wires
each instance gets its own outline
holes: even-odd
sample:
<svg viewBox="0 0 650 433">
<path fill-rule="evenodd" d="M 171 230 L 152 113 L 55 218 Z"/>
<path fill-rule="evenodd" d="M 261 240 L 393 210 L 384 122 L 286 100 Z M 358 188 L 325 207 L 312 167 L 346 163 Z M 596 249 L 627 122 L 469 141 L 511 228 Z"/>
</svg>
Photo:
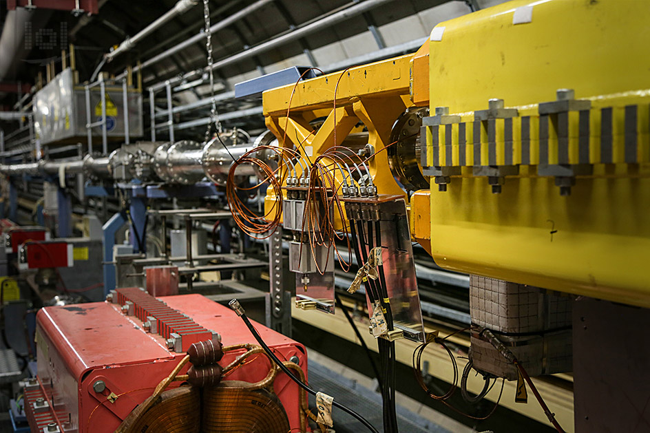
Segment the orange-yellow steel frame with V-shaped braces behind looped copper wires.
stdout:
<svg viewBox="0 0 650 433">
<path fill-rule="evenodd" d="M 412 55 L 401 56 L 267 90 L 263 94 L 266 126 L 280 146 L 296 149 L 307 164 L 333 146 L 346 146 L 350 133 L 365 126 L 368 144 L 375 149 L 368 169 L 378 193 L 404 194 L 390 175 L 385 149 L 393 123 L 412 105 L 411 59 Z M 324 119 L 322 125 L 314 127 L 311 122 L 316 119 Z M 332 174 L 341 182 L 339 172 L 332 170 Z M 275 196 L 269 189 L 267 211 L 273 202 Z"/>
</svg>

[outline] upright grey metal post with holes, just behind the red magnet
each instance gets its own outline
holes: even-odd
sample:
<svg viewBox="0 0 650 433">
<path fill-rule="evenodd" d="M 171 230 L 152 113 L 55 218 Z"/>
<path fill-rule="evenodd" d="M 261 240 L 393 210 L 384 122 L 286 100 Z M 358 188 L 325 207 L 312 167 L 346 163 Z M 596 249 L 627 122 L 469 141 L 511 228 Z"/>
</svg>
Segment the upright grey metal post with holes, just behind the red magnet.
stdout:
<svg viewBox="0 0 650 433">
<path fill-rule="evenodd" d="M 291 337 L 291 292 L 282 281 L 282 229 L 269 238 L 269 293 L 266 294 L 266 326 Z"/>
</svg>

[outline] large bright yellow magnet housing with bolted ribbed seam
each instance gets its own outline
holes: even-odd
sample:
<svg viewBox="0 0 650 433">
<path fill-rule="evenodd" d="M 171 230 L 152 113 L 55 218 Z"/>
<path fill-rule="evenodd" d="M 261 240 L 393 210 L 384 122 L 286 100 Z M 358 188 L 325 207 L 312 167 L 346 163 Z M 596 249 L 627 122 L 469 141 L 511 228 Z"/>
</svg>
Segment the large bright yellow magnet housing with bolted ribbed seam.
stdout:
<svg viewBox="0 0 650 433">
<path fill-rule="evenodd" d="M 521 8 L 532 8 L 530 22 L 514 24 L 515 14 L 526 16 Z M 432 178 L 437 264 L 650 307 L 649 12 L 650 3 L 638 1 L 512 1 L 434 29 L 430 107 L 459 117 L 430 129 L 428 164 L 460 170 L 445 192 Z M 540 171 L 545 158 L 550 167 L 563 162 L 559 116 L 546 119 L 546 156 L 538 108 L 562 88 L 590 101 L 566 117 L 565 166 L 589 169 L 573 176 L 570 196 Z M 490 98 L 517 109 L 494 119 L 494 138 L 474 116 Z M 505 166 L 518 173 L 503 178 L 498 194 L 473 171 Z M 412 212 L 426 209 L 412 204 Z"/>
</svg>

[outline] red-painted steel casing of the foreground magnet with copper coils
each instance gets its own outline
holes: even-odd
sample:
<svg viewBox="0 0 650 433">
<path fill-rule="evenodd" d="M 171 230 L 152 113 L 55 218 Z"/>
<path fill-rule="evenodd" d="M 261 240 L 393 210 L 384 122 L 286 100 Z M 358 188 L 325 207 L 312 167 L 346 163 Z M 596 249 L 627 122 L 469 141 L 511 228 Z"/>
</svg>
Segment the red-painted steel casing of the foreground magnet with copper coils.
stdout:
<svg viewBox="0 0 650 433">
<path fill-rule="evenodd" d="M 224 346 L 256 344 L 240 317 L 202 295 L 156 299 L 187 315 L 198 326 L 219 332 Z M 185 352 L 168 350 L 164 337 L 143 330 L 143 321 L 129 315 L 140 308 L 137 304 L 133 307 L 96 302 L 39 311 L 36 318 L 39 381 L 25 387 L 25 412 L 33 432 L 42 432 L 52 422 L 65 432 L 113 432 L 182 359 Z M 298 365 L 306 374 L 307 357 L 302 344 L 260 324 L 254 326 L 280 359 L 297 357 Z M 239 354 L 227 352 L 220 364 L 226 366 Z M 224 380 L 257 382 L 266 376 L 269 367 L 266 357 L 256 357 Z M 181 373 L 185 371 L 187 366 Z M 95 384 L 98 385 L 94 387 Z M 277 376 L 273 389 L 284 405 L 291 428 L 298 429 L 300 392 L 304 391 L 285 374 Z M 113 395 L 117 399 L 111 403 L 109 397 Z M 43 399 L 41 407 L 36 405 L 39 398 Z"/>
</svg>

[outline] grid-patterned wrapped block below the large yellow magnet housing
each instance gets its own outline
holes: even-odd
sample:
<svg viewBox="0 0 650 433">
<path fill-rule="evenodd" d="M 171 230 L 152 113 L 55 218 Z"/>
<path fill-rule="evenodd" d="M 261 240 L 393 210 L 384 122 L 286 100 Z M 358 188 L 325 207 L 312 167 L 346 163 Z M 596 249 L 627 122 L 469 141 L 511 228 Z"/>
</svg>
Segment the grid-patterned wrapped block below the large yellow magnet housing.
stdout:
<svg viewBox="0 0 650 433">
<path fill-rule="evenodd" d="M 571 302 L 533 286 L 470 277 L 472 323 L 496 331 L 531 376 L 572 370 Z M 471 345 L 476 370 L 516 379 L 516 368 L 490 342 L 473 333 Z"/>
</svg>

